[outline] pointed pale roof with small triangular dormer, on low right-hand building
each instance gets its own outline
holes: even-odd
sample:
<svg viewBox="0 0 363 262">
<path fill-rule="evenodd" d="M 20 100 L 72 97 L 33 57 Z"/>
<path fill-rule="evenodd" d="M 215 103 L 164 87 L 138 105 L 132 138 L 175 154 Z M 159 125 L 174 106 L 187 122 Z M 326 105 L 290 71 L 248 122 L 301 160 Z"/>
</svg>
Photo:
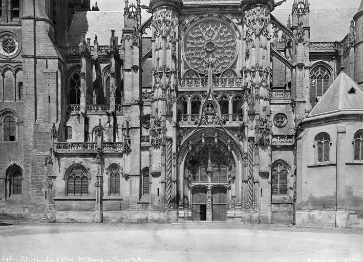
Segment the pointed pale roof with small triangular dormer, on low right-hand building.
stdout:
<svg viewBox="0 0 363 262">
<path fill-rule="evenodd" d="M 363 88 L 340 72 L 307 118 L 337 111 L 363 110 Z"/>
</svg>

